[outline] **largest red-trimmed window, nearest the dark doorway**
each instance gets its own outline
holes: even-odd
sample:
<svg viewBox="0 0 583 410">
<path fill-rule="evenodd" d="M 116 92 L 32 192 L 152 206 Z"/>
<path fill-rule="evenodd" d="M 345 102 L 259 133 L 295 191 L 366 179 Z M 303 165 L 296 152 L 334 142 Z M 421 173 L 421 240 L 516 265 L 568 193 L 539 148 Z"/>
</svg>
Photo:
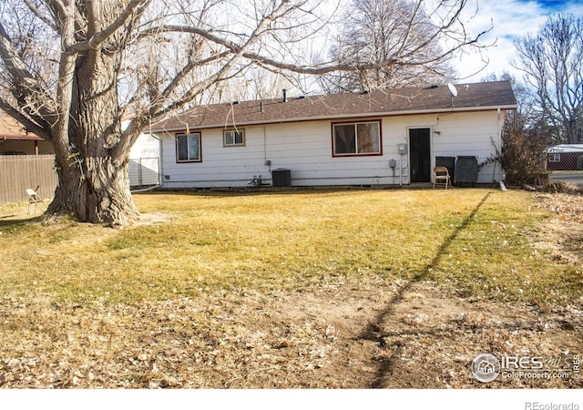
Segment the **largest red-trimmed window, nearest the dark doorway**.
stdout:
<svg viewBox="0 0 583 410">
<path fill-rule="evenodd" d="M 380 120 L 332 124 L 334 157 L 382 155 L 381 147 Z"/>
</svg>

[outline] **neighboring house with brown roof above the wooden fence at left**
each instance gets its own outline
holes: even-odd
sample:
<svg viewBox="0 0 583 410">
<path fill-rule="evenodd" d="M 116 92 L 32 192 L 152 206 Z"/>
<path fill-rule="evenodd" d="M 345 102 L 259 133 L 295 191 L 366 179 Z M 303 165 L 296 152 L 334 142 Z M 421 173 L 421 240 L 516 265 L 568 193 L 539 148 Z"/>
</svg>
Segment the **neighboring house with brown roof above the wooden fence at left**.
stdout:
<svg viewBox="0 0 583 410">
<path fill-rule="evenodd" d="M 0 111 L 0 155 L 47 155 L 54 154 L 53 144 L 25 128 Z"/>
</svg>

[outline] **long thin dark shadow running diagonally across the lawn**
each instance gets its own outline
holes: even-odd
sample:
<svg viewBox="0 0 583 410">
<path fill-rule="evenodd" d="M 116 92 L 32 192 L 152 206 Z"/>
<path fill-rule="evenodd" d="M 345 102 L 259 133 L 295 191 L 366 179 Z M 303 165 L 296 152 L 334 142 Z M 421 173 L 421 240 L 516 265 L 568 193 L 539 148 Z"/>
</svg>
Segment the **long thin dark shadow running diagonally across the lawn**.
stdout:
<svg viewBox="0 0 583 410">
<path fill-rule="evenodd" d="M 452 232 L 451 235 L 449 235 L 447 238 L 445 238 L 444 243 L 442 243 L 441 246 L 437 249 L 437 251 L 435 253 L 435 257 L 431 261 L 429 261 L 429 263 L 427 263 L 427 265 L 422 270 L 417 272 L 417 274 L 414 275 L 414 277 L 405 286 L 403 286 L 402 288 L 399 289 L 397 294 L 394 295 L 394 298 L 390 302 L 388 302 L 386 308 L 384 309 L 384 311 L 382 313 L 379 313 L 373 319 L 373 321 L 369 322 L 368 326 L 364 329 L 363 333 L 361 333 L 361 335 L 360 335 L 361 339 L 370 340 L 373 342 L 380 342 L 381 345 L 384 344 L 383 338 L 384 338 L 385 334 L 382 334 L 380 332 L 381 328 L 379 327 L 379 324 L 384 323 L 384 321 L 389 317 L 389 315 L 391 313 L 394 313 L 395 306 L 399 302 L 403 301 L 404 294 L 411 289 L 411 287 L 414 285 L 414 283 L 423 281 L 427 277 L 429 272 L 431 272 L 439 264 L 439 262 L 443 258 L 445 251 L 447 250 L 449 245 L 451 245 L 451 243 L 453 241 L 455 241 L 455 238 L 457 238 L 457 236 L 459 235 L 459 232 L 464 231 L 465 228 L 470 224 L 472 219 L 476 216 L 478 210 L 480 210 L 480 208 L 482 208 L 482 205 L 484 205 L 484 203 L 486 202 L 486 200 L 488 199 L 489 196 L 490 196 L 490 192 L 486 193 L 484 198 L 476 205 L 476 208 L 474 208 L 474 210 L 472 210 L 472 213 L 470 213 L 465 218 L 465 220 L 462 222 L 462 224 L 459 225 L 455 229 L 455 231 Z M 383 382 L 384 382 L 385 377 L 387 375 L 393 373 L 393 367 L 394 367 L 393 362 L 394 362 L 393 360 L 384 360 L 383 362 L 381 362 L 381 364 L 379 365 L 379 370 L 378 370 L 377 376 L 374 378 L 373 384 L 371 384 L 371 386 L 370 386 L 371 388 L 382 388 L 383 387 Z"/>
</svg>

